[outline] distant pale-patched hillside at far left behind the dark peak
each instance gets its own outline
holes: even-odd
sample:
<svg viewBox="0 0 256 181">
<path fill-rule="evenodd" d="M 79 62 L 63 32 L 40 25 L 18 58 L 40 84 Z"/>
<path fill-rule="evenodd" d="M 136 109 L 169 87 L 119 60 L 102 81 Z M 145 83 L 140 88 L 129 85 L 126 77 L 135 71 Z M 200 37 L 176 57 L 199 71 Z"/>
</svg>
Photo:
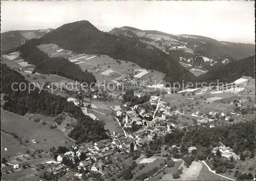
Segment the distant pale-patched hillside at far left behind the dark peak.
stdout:
<svg viewBox="0 0 256 181">
<path fill-rule="evenodd" d="M 1 33 L 1 50 L 5 51 L 20 46 L 26 40 L 39 38 L 53 29 L 46 30 L 16 30 Z M 3 54 L 3 53 L 2 53 Z"/>
</svg>

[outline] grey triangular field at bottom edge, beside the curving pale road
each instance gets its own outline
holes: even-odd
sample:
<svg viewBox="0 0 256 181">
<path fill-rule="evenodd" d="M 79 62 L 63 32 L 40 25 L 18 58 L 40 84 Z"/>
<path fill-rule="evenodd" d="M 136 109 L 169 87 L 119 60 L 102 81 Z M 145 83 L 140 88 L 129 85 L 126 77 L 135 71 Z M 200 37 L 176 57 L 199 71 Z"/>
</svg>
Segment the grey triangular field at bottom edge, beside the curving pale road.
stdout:
<svg viewBox="0 0 256 181">
<path fill-rule="evenodd" d="M 229 180 L 229 179 L 210 172 L 208 168 L 203 164 L 203 167 L 198 175 L 197 180 Z"/>
</svg>

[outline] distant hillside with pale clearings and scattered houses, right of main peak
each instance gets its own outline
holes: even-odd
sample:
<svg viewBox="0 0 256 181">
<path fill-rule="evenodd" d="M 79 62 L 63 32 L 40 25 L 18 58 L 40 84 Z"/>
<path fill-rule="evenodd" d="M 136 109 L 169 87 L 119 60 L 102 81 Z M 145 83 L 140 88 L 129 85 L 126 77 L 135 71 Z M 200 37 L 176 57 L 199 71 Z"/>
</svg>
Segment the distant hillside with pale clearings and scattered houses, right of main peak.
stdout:
<svg viewBox="0 0 256 181">
<path fill-rule="evenodd" d="M 153 30 L 143 31 L 132 27 L 114 28 L 109 33 L 135 36 L 140 41 L 169 53 L 174 60 L 189 63 L 202 70 L 208 70 L 209 66 L 218 63 L 226 64 L 255 55 L 254 44 L 217 41 L 198 35 L 173 35 Z M 191 59 L 194 60 L 190 61 Z"/>
</svg>

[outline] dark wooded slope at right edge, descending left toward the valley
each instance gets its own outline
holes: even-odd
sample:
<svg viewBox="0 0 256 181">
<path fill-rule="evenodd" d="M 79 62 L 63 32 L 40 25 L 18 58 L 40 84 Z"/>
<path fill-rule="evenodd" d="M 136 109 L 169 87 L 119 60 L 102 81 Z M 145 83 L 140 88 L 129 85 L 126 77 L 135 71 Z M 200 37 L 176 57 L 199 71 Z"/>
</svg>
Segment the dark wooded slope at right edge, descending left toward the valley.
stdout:
<svg viewBox="0 0 256 181">
<path fill-rule="evenodd" d="M 242 76 L 255 78 L 255 56 L 233 61 L 226 65 L 213 66 L 209 72 L 197 77 L 197 80 L 216 82 L 219 79 L 219 82 L 230 83 Z"/>
</svg>

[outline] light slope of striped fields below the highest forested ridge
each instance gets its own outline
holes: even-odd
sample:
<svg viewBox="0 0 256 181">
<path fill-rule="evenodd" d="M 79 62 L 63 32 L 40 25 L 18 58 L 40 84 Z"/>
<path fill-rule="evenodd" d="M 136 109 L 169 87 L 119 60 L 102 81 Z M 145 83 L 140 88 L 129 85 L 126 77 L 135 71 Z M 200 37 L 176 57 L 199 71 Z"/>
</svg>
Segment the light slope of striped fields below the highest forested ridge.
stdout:
<svg viewBox="0 0 256 181">
<path fill-rule="evenodd" d="M 144 70 L 144 72 L 147 72 L 137 74 L 135 70 L 142 70 L 137 64 L 123 60 L 115 60 L 106 55 L 97 56 L 79 54 L 72 56 L 70 55 L 71 51 L 62 50 L 56 44 L 41 44 L 38 48 L 48 53 L 51 57 L 60 56 L 70 58 L 70 61 L 79 64 L 82 70 L 88 70 L 93 73 L 96 80 L 99 80 L 100 82 L 103 82 L 104 80 L 106 83 L 109 83 L 112 80 L 126 81 L 126 77 L 133 75 L 141 80 L 146 80 L 148 84 L 155 84 L 155 81 L 158 83 L 164 78 L 164 74 L 151 70 Z"/>
</svg>

